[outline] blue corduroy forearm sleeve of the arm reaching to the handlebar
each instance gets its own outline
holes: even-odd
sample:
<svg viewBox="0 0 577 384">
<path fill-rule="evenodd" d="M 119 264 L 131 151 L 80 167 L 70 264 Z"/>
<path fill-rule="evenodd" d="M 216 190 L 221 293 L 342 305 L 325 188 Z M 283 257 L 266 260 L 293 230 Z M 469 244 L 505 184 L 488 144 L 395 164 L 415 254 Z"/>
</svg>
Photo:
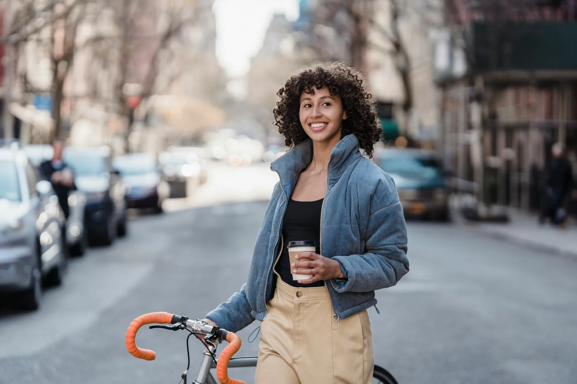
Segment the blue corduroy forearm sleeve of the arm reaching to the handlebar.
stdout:
<svg viewBox="0 0 577 384">
<path fill-rule="evenodd" d="M 237 332 L 254 321 L 250 311 L 250 304 L 246 299 L 246 284 L 243 284 L 240 292 L 233 293 L 227 302 L 220 304 L 206 317 L 220 328 Z"/>
</svg>

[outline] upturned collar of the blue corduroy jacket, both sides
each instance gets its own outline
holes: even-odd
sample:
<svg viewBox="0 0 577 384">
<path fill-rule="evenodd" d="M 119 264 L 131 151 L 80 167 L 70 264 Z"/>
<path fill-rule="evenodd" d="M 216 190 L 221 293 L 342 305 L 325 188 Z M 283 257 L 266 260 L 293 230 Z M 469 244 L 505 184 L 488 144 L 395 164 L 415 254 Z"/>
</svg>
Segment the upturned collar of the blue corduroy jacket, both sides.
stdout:
<svg viewBox="0 0 577 384">
<path fill-rule="evenodd" d="M 331 150 L 328 164 L 329 178 L 338 178 L 347 166 L 362 156 L 359 152 L 359 142 L 354 134 L 343 137 Z M 313 159 L 313 141 L 309 139 L 295 145 L 283 156 L 271 163 L 271 170 L 279 174 L 281 183 L 288 185 Z"/>
</svg>

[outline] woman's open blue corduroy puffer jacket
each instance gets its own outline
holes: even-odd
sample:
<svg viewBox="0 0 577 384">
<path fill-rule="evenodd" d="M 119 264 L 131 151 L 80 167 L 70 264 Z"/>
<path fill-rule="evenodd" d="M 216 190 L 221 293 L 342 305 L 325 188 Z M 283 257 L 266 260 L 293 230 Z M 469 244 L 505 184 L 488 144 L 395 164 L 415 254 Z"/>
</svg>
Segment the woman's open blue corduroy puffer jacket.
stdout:
<svg viewBox="0 0 577 384">
<path fill-rule="evenodd" d="M 219 327 L 236 332 L 267 315 L 284 211 L 312 155 L 309 139 L 271 164 L 280 181 L 258 232 L 248 280 L 207 315 Z M 393 179 L 361 155 L 355 135 L 346 135 L 332 149 L 327 179 L 321 254 L 337 260 L 346 272 L 346 279 L 325 281 L 335 313 L 344 319 L 374 306 L 376 289 L 392 287 L 409 272 L 407 228 Z"/>
</svg>

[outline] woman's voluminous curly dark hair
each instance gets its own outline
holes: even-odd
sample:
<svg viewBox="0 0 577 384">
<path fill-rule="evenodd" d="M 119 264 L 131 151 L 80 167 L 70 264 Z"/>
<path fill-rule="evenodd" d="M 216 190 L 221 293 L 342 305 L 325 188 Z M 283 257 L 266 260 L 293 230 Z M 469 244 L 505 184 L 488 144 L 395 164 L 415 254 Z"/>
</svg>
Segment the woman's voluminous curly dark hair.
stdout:
<svg viewBox="0 0 577 384">
<path fill-rule="evenodd" d="M 280 100 L 273 110 L 275 125 L 284 136 L 284 144 L 292 148 L 308 138 L 299 119 L 301 94 L 314 94 L 314 89 L 326 86 L 331 95 L 340 96 L 343 110 L 347 112 L 347 119 L 343 120 L 343 137 L 355 134 L 366 155 L 373 157 L 373 144 L 379 141 L 382 129 L 377 119 L 376 101 L 366 91 L 364 82 L 357 69 L 343 62 L 314 64 L 289 76 L 276 93 Z"/>
</svg>

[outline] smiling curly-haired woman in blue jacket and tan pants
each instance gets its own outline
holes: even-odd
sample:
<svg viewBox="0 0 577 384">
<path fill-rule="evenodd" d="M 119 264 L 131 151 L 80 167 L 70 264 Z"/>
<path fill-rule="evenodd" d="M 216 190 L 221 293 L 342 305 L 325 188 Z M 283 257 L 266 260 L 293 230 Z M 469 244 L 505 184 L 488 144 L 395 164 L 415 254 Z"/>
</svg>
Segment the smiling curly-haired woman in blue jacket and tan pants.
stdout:
<svg viewBox="0 0 577 384">
<path fill-rule="evenodd" d="M 256 383 L 370 383 L 366 309 L 409 271 L 402 206 L 369 159 L 381 129 L 361 74 L 343 63 L 305 68 L 278 92 L 276 125 L 290 150 L 258 233 L 248 281 L 207 315 L 239 330 L 261 321 Z M 313 240 L 309 261 L 286 244 Z M 294 281 L 297 268 L 310 277 Z M 304 273 L 299 270 L 298 273 Z"/>
</svg>

